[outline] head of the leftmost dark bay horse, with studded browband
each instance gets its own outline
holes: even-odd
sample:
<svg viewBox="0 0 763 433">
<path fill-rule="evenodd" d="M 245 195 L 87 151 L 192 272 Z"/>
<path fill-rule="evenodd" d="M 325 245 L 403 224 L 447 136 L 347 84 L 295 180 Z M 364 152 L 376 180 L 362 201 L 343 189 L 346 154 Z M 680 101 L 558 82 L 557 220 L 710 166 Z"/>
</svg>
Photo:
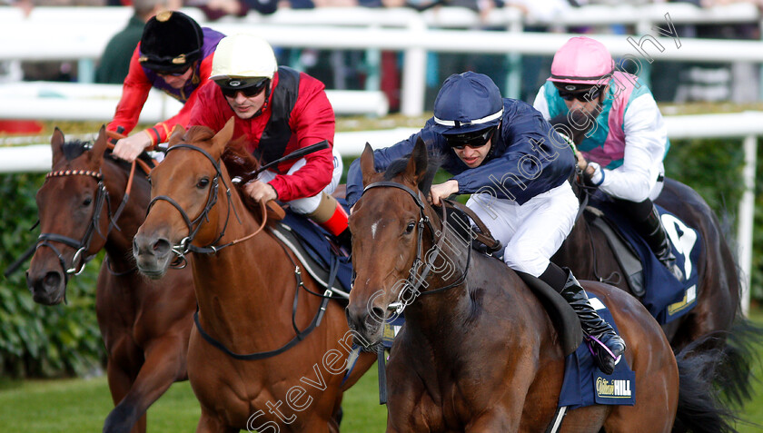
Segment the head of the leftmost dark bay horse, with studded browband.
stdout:
<svg viewBox="0 0 763 433">
<path fill-rule="evenodd" d="M 37 303 L 61 303 L 69 275 L 82 271 L 86 259 L 104 248 L 109 224 L 102 172 L 105 127 L 92 148 L 86 144 L 65 142 L 58 128 L 50 141 L 52 170 L 36 195 L 41 234 L 26 272 Z"/>
</svg>

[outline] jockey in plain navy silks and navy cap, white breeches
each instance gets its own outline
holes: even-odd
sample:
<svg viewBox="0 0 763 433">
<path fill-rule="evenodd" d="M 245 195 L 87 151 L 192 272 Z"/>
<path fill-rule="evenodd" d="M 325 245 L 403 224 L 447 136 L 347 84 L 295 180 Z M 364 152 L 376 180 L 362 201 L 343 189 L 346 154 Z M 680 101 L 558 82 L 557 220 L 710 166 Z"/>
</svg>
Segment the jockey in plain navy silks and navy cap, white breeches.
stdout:
<svg viewBox="0 0 763 433">
<path fill-rule="evenodd" d="M 383 170 L 411 153 L 419 138 L 430 152 L 443 155 L 442 168 L 453 174 L 431 186 L 431 203 L 471 194 L 467 206 L 504 245 L 503 261 L 545 281 L 570 302 L 599 368 L 611 373 L 625 342 L 591 307 L 572 273 L 550 262 L 572 230 L 579 207 L 568 182 L 575 165 L 569 146 L 529 104 L 501 98 L 488 76 L 472 72 L 445 80 L 434 116 L 409 139 L 375 151 L 375 168 Z M 354 204 L 361 193 L 360 162 L 355 160 L 347 177 L 347 202 Z"/>
</svg>

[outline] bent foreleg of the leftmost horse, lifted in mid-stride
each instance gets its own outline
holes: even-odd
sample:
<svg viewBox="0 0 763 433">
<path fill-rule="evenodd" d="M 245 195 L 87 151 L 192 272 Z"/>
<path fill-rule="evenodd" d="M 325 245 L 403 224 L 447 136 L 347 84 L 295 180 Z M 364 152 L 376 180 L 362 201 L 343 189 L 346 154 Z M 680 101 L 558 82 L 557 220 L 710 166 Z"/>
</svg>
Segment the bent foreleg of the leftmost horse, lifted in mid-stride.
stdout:
<svg viewBox="0 0 763 433">
<path fill-rule="evenodd" d="M 146 349 L 145 361 L 129 392 L 111 411 L 104 431 L 128 432 L 140 420 L 145 431 L 145 411 L 170 385 L 184 376 L 186 345 L 182 336 L 155 341 Z M 108 428 L 108 429 L 106 429 Z"/>
</svg>

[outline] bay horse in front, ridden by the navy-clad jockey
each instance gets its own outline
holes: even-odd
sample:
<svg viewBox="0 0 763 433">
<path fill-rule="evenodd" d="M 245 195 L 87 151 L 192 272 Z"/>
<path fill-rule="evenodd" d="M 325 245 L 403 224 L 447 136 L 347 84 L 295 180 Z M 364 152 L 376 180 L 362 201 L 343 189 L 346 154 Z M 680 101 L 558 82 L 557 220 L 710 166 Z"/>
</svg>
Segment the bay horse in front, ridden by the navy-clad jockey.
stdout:
<svg viewBox="0 0 763 433">
<path fill-rule="evenodd" d="M 546 310 L 505 263 L 444 229 L 425 199 L 437 167 L 421 140 L 401 162 L 377 173 L 366 145 L 364 192 L 350 216 L 351 329 L 373 344 L 391 306 L 405 308 L 387 365 L 387 431 L 550 431 L 564 355 Z M 623 357 L 635 371 L 636 404 L 571 410 L 561 431 L 669 432 L 677 411 L 694 431 L 728 428 L 719 408 L 691 406 L 706 401 L 693 388 L 701 381 L 685 374 L 683 360 L 677 365 L 638 300 L 597 281 L 583 285 L 609 306 L 629 341 Z"/>
</svg>

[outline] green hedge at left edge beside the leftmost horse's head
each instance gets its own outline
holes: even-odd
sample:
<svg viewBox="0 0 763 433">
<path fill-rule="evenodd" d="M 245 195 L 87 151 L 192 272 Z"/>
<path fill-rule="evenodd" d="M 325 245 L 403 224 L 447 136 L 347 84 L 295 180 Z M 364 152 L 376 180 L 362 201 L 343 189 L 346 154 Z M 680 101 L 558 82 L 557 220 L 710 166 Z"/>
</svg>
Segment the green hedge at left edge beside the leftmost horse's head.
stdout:
<svg viewBox="0 0 763 433">
<path fill-rule="evenodd" d="M 41 174 L 0 176 L 0 268 L 5 268 L 32 245 L 39 228 L 35 193 Z M 26 288 L 28 261 L 0 280 L 0 375 L 50 377 L 83 375 L 104 357 L 95 321 L 95 280 L 100 259 L 69 280 L 68 305 L 35 304 Z"/>
</svg>

